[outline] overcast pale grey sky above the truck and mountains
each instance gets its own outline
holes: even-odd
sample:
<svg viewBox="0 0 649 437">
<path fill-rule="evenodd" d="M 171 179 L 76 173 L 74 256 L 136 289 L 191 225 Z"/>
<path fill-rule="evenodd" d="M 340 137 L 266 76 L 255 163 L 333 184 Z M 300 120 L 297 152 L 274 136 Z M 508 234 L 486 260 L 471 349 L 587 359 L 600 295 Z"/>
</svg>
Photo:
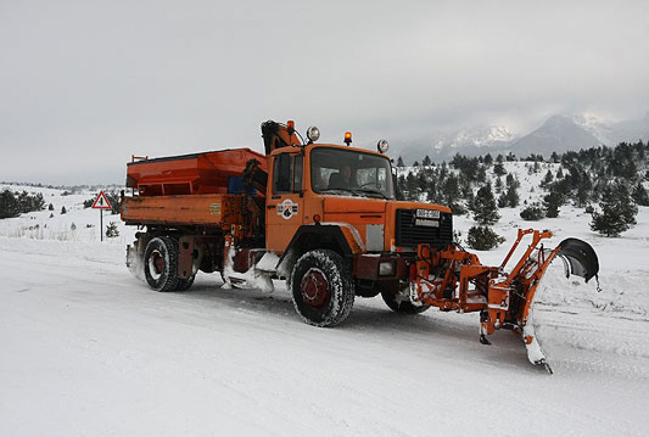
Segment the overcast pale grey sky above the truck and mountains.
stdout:
<svg viewBox="0 0 649 437">
<path fill-rule="evenodd" d="M 261 151 L 265 119 L 373 147 L 647 110 L 649 1 L 0 0 L 0 181 Z"/>
</svg>

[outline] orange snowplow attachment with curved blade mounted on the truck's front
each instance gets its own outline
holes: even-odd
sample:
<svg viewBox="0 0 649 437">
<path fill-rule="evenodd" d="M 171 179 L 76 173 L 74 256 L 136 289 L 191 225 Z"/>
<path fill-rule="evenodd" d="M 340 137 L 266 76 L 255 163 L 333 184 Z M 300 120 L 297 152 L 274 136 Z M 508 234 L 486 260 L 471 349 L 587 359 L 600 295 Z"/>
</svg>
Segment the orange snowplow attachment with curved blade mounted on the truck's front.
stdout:
<svg viewBox="0 0 649 437">
<path fill-rule="evenodd" d="M 506 266 L 525 236 L 532 241 L 507 273 Z M 411 268 L 410 299 L 415 305 L 432 305 L 446 311 L 480 311 L 481 343 L 491 344 L 486 336 L 497 329 L 511 329 L 526 345 L 530 362 L 545 365 L 551 373 L 532 324 L 528 323 L 539 281 L 556 256 L 564 259 L 567 276 L 580 275 L 586 282 L 597 277 L 599 263 L 588 243 L 568 238 L 554 249 L 546 249 L 541 241 L 550 237 L 548 231 L 520 229 L 498 267 L 483 266 L 478 256 L 459 245 L 438 251 L 420 244 Z"/>
</svg>

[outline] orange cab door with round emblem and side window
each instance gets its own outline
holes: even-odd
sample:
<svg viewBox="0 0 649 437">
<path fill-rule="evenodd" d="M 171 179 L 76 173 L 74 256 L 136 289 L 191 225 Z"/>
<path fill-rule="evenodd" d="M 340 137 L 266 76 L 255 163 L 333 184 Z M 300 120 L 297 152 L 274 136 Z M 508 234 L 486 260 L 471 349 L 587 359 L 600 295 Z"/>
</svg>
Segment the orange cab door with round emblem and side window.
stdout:
<svg viewBox="0 0 649 437">
<path fill-rule="evenodd" d="M 284 152 L 273 159 L 272 181 L 266 204 L 266 246 L 283 253 L 288 243 L 302 226 L 304 216 L 304 156 Z"/>
</svg>

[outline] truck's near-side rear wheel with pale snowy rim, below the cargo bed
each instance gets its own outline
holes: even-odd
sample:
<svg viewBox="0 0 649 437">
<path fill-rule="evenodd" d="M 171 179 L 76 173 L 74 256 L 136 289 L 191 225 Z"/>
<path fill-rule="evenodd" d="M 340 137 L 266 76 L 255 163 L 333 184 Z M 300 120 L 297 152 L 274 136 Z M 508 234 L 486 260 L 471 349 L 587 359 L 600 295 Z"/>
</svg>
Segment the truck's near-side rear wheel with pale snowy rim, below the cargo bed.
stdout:
<svg viewBox="0 0 649 437">
<path fill-rule="evenodd" d="M 156 292 L 172 292 L 178 286 L 178 241 L 153 238 L 144 253 L 144 276 Z"/>
</svg>

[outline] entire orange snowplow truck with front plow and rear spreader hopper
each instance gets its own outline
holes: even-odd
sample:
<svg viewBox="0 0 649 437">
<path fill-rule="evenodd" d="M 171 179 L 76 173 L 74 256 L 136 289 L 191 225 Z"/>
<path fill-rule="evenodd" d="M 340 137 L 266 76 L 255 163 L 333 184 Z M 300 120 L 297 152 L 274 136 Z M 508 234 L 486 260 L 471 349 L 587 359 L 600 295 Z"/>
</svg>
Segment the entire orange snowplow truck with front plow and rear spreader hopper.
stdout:
<svg viewBox="0 0 649 437">
<path fill-rule="evenodd" d="M 385 140 L 369 151 L 351 147 L 349 132 L 345 144 L 317 143 L 316 127 L 306 136 L 293 121 L 266 121 L 265 155 L 132 156 L 121 217 L 138 232 L 127 264 L 160 292 L 190 288 L 199 270 L 219 271 L 226 287 L 284 279 L 297 313 L 320 327 L 347 318 L 356 296 L 380 294 L 405 314 L 477 311 L 482 343 L 511 329 L 530 361 L 546 364 L 528 323 L 534 292 L 556 256 L 568 273 L 596 276 L 590 245 L 569 238 L 546 249 L 550 232 L 519 231 L 502 265 L 484 266 L 454 242 L 449 208 L 399 200 Z M 532 241 L 507 269 L 522 238 Z"/>
</svg>

